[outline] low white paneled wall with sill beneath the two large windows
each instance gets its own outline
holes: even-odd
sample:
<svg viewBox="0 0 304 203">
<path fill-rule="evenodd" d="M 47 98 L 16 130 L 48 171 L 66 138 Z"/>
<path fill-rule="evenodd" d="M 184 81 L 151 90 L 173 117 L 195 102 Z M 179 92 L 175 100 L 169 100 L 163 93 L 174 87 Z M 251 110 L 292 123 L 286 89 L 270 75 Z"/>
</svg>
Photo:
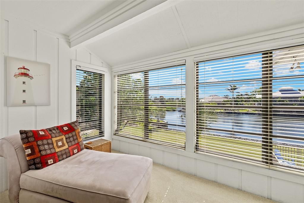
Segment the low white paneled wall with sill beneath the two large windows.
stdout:
<svg viewBox="0 0 304 203">
<path fill-rule="evenodd" d="M 303 203 L 304 178 L 246 163 L 209 157 L 155 144 L 112 136 L 112 148 L 279 202 Z"/>
</svg>

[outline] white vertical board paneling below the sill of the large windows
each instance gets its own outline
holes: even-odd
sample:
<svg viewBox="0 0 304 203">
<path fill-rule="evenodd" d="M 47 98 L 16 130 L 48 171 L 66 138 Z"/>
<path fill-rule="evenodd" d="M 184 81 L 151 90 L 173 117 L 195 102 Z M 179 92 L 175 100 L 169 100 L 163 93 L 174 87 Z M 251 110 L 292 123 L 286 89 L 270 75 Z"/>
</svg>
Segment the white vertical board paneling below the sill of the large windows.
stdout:
<svg viewBox="0 0 304 203">
<path fill-rule="evenodd" d="M 304 185 L 295 183 L 292 179 L 283 180 L 279 177 L 280 175 L 273 176 L 270 174 L 260 174 L 258 172 L 254 173 L 250 171 L 250 168 L 249 170 L 239 169 L 237 166 L 234 167 L 233 162 L 231 162 L 231 166 L 225 166 L 220 163 L 204 161 L 198 158 L 143 146 L 139 143 L 141 141 L 137 141 L 137 144 L 132 143 L 133 141 L 131 139 L 128 141 L 113 138 L 113 150 L 126 154 L 146 156 L 152 158 L 154 163 L 275 201 L 304 202 Z M 148 145 L 153 146 L 153 144 Z M 223 162 L 223 164 L 225 163 Z"/>
</svg>

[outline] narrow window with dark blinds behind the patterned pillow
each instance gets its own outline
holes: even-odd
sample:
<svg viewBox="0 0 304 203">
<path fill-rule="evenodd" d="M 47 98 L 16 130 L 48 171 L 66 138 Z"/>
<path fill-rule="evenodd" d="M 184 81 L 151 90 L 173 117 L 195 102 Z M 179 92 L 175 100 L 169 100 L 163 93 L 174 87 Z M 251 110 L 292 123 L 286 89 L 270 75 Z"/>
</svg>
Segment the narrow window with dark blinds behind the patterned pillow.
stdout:
<svg viewBox="0 0 304 203">
<path fill-rule="evenodd" d="M 76 69 L 76 118 L 83 139 L 104 136 L 104 75 Z"/>
</svg>

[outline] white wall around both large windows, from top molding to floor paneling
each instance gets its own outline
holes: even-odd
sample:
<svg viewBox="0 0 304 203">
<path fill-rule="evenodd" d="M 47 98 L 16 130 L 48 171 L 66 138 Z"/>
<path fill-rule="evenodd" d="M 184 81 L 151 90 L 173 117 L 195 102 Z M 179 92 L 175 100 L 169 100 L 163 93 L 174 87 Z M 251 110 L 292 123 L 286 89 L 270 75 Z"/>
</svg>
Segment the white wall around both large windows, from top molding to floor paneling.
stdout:
<svg viewBox="0 0 304 203">
<path fill-rule="evenodd" d="M 302 23 L 112 67 L 114 75 L 131 68 L 138 68 L 139 71 L 141 67 L 186 60 L 187 101 L 185 150 L 112 135 L 113 150 L 150 157 L 155 163 L 275 201 L 303 203 L 304 176 L 299 173 L 272 170 L 194 151 L 194 61 L 300 45 L 304 44 L 303 37 Z"/>
</svg>

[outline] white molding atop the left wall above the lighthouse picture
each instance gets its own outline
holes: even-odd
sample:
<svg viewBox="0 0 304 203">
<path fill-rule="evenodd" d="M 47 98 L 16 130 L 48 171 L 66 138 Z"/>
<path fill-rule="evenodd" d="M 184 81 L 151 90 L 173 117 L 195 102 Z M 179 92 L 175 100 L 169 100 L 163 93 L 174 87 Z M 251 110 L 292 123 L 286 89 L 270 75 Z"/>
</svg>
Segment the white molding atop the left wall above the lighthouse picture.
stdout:
<svg viewBox="0 0 304 203">
<path fill-rule="evenodd" d="M 11 16 L 11 15 L 3 16 L 2 19 L 3 20 L 7 20 L 9 22 L 13 22 L 13 23 L 19 24 L 19 25 L 22 25 L 22 26 L 30 27 L 33 30 L 37 30 L 37 31 L 43 32 L 45 34 L 48 34 L 50 36 L 56 37 L 58 39 L 62 39 L 64 41 L 70 42 L 69 37 L 67 35 L 56 33 L 56 32 L 52 32 L 50 30 L 47 30 L 45 27 L 42 27 L 42 26 L 37 25 L 35 23 L 32 23 L 32 22 L 30 22 L 28 20 L 17 18 L 15 16 Z"/>
</svg>

